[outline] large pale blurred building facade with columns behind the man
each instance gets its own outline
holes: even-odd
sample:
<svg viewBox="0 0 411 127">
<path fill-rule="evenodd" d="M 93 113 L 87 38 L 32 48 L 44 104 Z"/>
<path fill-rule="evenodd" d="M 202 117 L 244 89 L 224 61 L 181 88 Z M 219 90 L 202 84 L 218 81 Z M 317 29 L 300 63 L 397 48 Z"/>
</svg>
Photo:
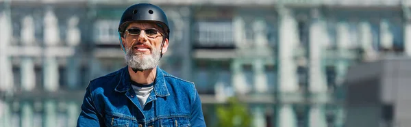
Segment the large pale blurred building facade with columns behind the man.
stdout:
<svg viewBox="0 0 411 127">
<path fill-rule="evenodd" d="M 237 96 L 253 126 L 342 127 L 347 68 L 411 53 L 410 0 L 0 2 L 0 126 L 75 126 L 88 81 L 125 66 L 133 3 L 169 16 L 160 67 L 196 83 L 208 126 Z"/>
</svg>

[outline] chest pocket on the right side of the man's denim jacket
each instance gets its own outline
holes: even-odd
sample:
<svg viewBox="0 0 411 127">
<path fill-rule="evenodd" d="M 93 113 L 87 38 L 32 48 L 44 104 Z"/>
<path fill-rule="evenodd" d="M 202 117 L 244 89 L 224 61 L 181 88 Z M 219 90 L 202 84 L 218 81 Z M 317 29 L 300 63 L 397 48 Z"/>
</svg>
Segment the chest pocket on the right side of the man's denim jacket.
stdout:
<svg viewBox="0 0 411 127">
<path fill-rule="evenodd" d="M 160 119 L 160 126 L 162 127 L 186 127 L 190 125 L 188 117 L 171 117 Z"/>
</svg>

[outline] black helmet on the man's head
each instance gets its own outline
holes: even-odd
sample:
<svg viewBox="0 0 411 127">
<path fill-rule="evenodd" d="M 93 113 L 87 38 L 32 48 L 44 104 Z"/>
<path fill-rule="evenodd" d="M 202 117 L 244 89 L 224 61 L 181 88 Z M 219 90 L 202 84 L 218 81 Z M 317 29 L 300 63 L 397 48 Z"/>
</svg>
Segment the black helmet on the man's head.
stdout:
<svg viewBox="0 0 411 127">
<path fill-rule="evenodd" d="M 125 28 L 133 21 L 148 21 L 158 23 L 164 29 L 166 38 L 169 39 L 170 29 L 169 20 L 166 14 L 157 5 L 150 3 L 139 3 L 129 6 L 121 16 L 119 23 L 119 33 L 123 36 Z"/>
</svg>

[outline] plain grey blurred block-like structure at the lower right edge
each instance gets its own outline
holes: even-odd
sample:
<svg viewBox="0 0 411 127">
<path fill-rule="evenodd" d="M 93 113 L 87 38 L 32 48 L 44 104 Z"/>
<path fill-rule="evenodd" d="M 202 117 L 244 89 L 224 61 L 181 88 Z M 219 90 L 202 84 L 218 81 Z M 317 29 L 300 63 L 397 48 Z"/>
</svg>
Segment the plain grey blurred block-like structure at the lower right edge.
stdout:
<svg viewBox="0 0 411 127">
<path fill-rule="evenodd" d="M 410 70 L 410 57 L 388 57 L 351 66 L 345 81 L 345 125 L 411 126 Z"/>
</svg>

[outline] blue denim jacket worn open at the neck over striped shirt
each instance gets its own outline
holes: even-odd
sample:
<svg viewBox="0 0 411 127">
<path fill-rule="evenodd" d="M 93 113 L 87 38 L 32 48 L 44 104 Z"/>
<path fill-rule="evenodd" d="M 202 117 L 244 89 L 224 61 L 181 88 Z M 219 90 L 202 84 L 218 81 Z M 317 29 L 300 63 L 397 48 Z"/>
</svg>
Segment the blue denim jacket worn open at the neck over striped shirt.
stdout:
<svg viewBox="0 0 411 127">
<path fill-rule="evenodd" d="M 153 91 L 141 107 L 127 68 L 90 81 L 77 126 L 206 126 L 194 83 L 157 67 Z"/>
</svg>

